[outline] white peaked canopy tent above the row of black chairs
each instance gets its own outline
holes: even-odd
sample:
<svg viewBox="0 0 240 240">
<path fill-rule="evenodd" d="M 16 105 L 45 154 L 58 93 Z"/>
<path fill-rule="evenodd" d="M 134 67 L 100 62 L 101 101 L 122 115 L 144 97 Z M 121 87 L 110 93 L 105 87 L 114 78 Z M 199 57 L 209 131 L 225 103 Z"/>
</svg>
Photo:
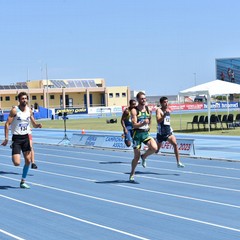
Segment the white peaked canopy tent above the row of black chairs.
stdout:
<svg viewBox="0 0 240 240">
<path fill-rule="evenodd" d="M 208 106 L 208 122 L 210 123 L 211 96 L 227 95 L 228 101 L 229 94 L 240 94 L 240 85 L 236 83 L 225 82 L 222 80 L 214 80 L 182 90 L 178 93 L 178 97 L 180 99 L 181 96 L 206 95 Z M 208 124 L 208 129 L 210 131 L 210 124 Z"/>
</svg>

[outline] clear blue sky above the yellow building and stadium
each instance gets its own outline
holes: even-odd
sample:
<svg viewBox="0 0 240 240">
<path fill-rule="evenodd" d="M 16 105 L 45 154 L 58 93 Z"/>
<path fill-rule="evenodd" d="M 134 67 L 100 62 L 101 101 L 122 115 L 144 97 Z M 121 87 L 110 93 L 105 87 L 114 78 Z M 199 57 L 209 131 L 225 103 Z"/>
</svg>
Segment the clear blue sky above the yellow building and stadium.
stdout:
<svg viewBox="0 0 240 240">
<path fill-rule="evenodd" d="M 238 0 L 0 0 L 0 84 L 47 66 L 49 79 L 177 94 L 240 57 L 239 13 Z"/>
</svg>

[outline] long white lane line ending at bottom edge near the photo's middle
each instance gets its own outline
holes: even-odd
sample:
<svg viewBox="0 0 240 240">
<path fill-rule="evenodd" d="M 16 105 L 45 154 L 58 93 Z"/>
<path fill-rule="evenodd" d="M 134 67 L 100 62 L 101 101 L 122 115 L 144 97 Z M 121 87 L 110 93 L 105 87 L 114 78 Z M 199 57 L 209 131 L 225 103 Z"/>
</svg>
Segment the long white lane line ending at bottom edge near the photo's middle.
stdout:
<svg viewBox="0 0 240 240">
<path fill-rule="evenodd" d="M 98 223 L 95 223 L 95 222 L 91 222 L 91 221 L 88 221 L 88 220 L 85 220 L 85 219 L 82 219 L 82 218 L 74 217 L 72 215 L 65 214 L 65 213 L 62 213 L 62 212 L 59 212 L 59 211 L 55 211 L 55 210 L 52 210 L 52 209 L 49 209 L 49 208 L 45 208 L 45 207 L 41 207 L 41 206 L 38 206 L 38 205 L 35 205 L 35 204 L 31 204 L 31 203 L 28 203 L 28 202 L 25 202 L 25 201 L 21 201 L 21 200 L 18 200 L 16 198 L 8 197 L 8 196 L 2 195 L 2 194 L 0 194 L 0 197 L 11 200 L 11 201 L 14 201 L 14 202 L 18 202 L 18 203 L 21 203 L 21 204 L 24 204 L 24 205 L 27 205 L 27 206 L 30 206 L 30 207 L 41 209 L 41 210 L 46 211 L 46 212 L 50 212 L 50 213 L 53 213 L 53 214 L 57 214 L 57 215 L 66 217 L 66 218 L 70 218 L 70 219 L 73 219 L 73 220 L 78 221 L 78 222 L 83 222 L 83 223 L 86 223 L 86 224 L 89 224 L 89 225 L 93 225 L 95 227 L 100 227 L 100 228 L 104 228 L 104 229 L 107 229 L 107 230 L 110 230 L 110 231 L 113 231 L 113 232 L 117 232 L 117 233 L 129 236 L 129 237 L 133 237 L 133 238 L 141 239 L 141 240 L 149 240 L 148 238 L 144 238 L 144 237 L 141 237 L 141 236 L 138 236 L 138 235 L 135 235 L 135 234 L 131 234 L 129 232 L 118 230 L 116 228 L 111 228 L 111 227 L 108 227 L 108 226 L 105 226 L 105 225 L 102 225 L 102 224 L 98 224 Z"/>
</svg>

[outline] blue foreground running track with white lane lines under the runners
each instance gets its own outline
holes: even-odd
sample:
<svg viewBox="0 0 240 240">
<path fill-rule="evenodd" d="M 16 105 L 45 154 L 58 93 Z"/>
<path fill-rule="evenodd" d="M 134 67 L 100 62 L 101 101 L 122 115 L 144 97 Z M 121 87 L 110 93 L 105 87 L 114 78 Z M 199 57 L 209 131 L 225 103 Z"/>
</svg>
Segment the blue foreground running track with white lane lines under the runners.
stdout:
<svg viewBox="0 0 240 240">
<path fill-rule="evenodd" d="M 1 147 L 0 239 L 240 239 L 240 162 L 152 155 L 130 183 L 131 151 L 34 146 L 30 190 Z"/>
</svg>

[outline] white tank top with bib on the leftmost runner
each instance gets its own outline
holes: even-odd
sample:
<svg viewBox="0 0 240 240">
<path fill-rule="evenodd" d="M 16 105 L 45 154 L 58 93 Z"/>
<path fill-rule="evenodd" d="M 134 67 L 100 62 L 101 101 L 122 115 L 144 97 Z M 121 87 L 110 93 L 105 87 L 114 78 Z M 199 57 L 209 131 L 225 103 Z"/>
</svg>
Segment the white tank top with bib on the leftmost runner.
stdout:
<svg viewBox="0 0 240 240">
<path fill-rule="evenodd" d="M 17 114 L 11 124 L 11 130 L 13 135 L 25 135 L 30 132 L 30 108 L 26 107 L 22 112 L 18 106 L 15 107 Z"/>
</svg>

